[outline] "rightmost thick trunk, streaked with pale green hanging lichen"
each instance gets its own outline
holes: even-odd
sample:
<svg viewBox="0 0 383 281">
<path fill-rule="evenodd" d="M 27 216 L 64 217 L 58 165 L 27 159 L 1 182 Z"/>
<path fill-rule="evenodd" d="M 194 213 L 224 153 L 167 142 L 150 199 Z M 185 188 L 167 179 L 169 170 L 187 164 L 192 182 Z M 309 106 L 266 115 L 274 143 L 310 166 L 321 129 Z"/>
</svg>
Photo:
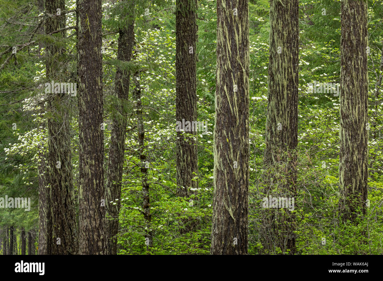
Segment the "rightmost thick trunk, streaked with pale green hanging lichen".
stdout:
<svg viewBox="0 0 383 281">
<path fill-rule="evenodd" d="M 367 1 L 342 0 L 340 37 L 340 210 L 366 214 L 368 178 Z"/>
</svg>

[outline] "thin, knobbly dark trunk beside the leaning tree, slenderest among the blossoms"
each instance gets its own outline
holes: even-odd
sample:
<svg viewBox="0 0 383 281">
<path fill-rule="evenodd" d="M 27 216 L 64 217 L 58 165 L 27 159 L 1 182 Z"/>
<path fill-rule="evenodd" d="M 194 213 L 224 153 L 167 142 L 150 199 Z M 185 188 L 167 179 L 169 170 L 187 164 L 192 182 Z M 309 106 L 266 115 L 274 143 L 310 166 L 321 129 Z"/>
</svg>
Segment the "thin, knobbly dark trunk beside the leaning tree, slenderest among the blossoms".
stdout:
<svg viewBox="0 0 383 281">
<path fill-rule="evenodd" d="M 135 73 L 133 76 L 134 81 L 134 91 L 133 97 L 136 101 L 136 116 L 137 116 L 137 129 L 138 129 L 138 145 L 139 145 L 139 154 L 141 161 L 141 180 L 142 180 L 142 196 L 143 196 L 143 214 L 148 231 L 144 234 L 146 250 L 153 247 L 153 233 L 151 231 L 151 219 L 152 215 L 150 213 L 150 197 L 149 197 L 149 183 L 147 182 L 147 164 L 146 155 L 144 154 L 144 119 L 142 115 L 142 103 L 141 103 L 141 89 L 140 89 L 140 80 L 139 73 Z"/>
</svg>

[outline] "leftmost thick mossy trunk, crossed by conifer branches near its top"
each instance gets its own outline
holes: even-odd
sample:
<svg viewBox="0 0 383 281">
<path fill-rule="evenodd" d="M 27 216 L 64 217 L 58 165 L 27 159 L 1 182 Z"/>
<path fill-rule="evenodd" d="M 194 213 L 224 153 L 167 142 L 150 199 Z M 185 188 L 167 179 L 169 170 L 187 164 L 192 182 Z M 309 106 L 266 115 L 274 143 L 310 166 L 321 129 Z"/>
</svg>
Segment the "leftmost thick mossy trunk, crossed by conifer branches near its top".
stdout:
<svg viewBox="0 0 383 281">
<path fill-rule="evenodd" d="M 45 32 L 65 27 L 65 0 L 46 0 L 47 13 L 54 14 L 46 21 Z M 57 15 L 57 9 L 60 14 Z M 66 32 L 56 33 L 59 41 Z M 60 42 L 62 44 L 62 42 Z M 67 69 L 65 47 L 57 42 L 46 44 L 46 78 L 54 83 L 67 82 L 63 70 Z M 72 82 L 73 83 L 73 82 Z M 50 93 L 47 98 L 47 110 L 50 115 L 48 124 L 48 169 L 50 184 L 50 202 L 52 213 L 52 254 L 70 255 L 78 251 L 77 226 L 75 216 L 75 198 L 72 180 L 72 151 L 70 135 L 69 93 Z M 72 98 L 73 99 L 73 98 Z"/>
</svg>

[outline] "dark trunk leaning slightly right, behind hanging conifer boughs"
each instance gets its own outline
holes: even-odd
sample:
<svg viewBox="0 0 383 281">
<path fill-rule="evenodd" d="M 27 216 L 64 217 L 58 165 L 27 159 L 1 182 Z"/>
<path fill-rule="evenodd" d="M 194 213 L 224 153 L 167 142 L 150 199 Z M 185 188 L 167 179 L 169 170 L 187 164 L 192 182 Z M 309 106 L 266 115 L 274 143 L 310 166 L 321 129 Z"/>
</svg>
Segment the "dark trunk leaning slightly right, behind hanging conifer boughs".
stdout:
<svg viewBox="0 0 383 281">
<path fill-rule="evenodd" d="M 119 30 L 117 59 L 129 62 L 132 58 L 134 45 L 134 19 L 126 15 L 128 23 L 124 29 Z M 106 211 L 108 218 L 109 254 L 117 254 L 118 216 L 121 206 L 121 181 L 124 165 L 125 134 L 126 134 L 126 103 L 129 96 L 130 73 L 126 68 L 117 67 L 115 77 L 115 94 L 119 99 L 116 112 L 113 114 L 108 175 L 106 178 Z M 113 203 L 110 203 L 113 202 Z"/>
</svg>

